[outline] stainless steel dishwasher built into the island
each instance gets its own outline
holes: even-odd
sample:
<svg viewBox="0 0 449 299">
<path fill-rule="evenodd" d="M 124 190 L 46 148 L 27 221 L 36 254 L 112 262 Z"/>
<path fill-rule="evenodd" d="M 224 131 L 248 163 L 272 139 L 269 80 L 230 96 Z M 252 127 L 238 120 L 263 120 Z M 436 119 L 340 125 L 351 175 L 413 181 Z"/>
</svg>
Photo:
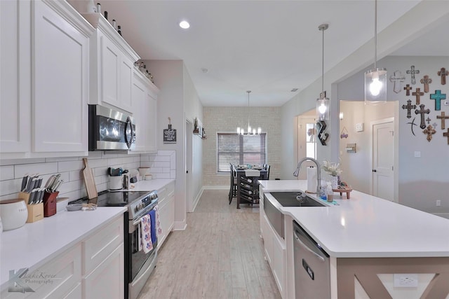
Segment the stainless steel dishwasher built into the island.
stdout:
<svg viewBox="0 0 449 299">
<path fill-rule="evenodd" d="M 329 255 L 293 221 L 293 253 L 295 255 L 295 298 L 329 299 Z"/>
</svg>

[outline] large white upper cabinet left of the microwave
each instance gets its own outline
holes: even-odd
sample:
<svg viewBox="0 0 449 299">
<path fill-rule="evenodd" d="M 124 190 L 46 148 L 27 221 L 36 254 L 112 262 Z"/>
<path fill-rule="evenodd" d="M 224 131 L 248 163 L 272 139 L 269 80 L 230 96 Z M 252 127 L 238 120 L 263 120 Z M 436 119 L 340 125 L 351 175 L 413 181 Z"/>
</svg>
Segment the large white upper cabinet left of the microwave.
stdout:
<svg viewBox="0 0 449 299">
<path fill-rule="evenodd" d="M 2 157 L 86 155 L 93 27 L 65 1 L 1 1 L 0 12 L 11 41 L 0 54 Z"/>
</svg>

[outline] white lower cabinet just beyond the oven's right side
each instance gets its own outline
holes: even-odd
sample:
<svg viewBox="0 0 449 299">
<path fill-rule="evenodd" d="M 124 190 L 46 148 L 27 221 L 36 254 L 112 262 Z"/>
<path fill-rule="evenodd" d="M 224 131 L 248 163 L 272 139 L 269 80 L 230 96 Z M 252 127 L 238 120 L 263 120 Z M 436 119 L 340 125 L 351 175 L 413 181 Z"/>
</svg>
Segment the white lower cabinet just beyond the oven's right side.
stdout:
<svg viewBox="0 0 449 299">
<path fill-rule="evenodd" d="M 163 188 L 157 190 L 157 194 L 159 197 L 159 218 L 161 219 L 162 228 L 162 235 L 159 236 L 158 246 L 162 246 L 175 225 L 175 182 L 168 183 Z"/>
</svg>

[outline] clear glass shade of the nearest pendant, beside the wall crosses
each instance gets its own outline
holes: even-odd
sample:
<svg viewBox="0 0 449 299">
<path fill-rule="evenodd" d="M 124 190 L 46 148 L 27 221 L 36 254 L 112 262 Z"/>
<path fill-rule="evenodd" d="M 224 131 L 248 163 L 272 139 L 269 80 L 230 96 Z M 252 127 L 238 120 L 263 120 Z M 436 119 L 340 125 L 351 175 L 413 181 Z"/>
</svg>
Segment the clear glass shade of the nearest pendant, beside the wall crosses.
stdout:
<svg viewBox="0 0 449 299">
<path fill-rule="evenodd" d="M 387 69 L 370 69 L 365 73 L 365 104 L 387 102 Z"/>
</svg>

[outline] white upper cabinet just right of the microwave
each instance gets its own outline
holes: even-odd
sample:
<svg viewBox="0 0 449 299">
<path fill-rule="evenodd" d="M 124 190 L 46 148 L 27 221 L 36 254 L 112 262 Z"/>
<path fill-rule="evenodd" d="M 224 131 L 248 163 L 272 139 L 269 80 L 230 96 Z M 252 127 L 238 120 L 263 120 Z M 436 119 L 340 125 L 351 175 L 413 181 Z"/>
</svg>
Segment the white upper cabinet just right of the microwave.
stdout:
<svg viewBox="0 0 449 299">
<path fill-rule="evenodd" d="M 159 90 L 135 69 L 133 75 L 133 117 L 136 125 L 135 152 L 156 152 L 156 102 Z"/>
</svg>

